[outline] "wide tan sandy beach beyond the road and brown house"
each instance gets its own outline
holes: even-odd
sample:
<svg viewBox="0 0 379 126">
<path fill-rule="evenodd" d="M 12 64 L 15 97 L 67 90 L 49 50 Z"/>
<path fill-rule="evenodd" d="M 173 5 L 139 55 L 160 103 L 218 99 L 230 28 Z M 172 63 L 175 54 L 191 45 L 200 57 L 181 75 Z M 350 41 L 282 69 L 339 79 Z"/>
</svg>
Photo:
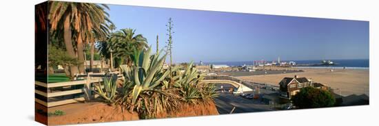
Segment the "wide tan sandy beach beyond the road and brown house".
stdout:
<svg viewBox="0 0 379 126">
<path fill-rule="evenodd" d="M 298 68 L 305 72 L 283 73 L 275 75 L 251 75 L 238 77 L 247 81 L 278 86 L 283 77 L 307 77 L 314 82 L 325 84 L 342 96 L 362 95 L 369 96 L 369 69 L 333 69 L 330 68 Z M 339 88 L 340 90 L 338 90 Z"/>
</svg>

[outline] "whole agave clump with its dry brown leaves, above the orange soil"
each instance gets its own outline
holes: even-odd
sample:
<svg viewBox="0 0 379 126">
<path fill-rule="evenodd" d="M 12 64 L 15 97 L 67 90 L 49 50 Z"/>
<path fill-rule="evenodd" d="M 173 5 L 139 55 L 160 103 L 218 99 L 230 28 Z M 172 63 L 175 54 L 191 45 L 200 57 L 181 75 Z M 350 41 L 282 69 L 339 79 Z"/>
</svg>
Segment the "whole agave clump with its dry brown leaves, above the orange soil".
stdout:
<svg viewBox="0 0 379 126">
<path fill-rule="evenodd" d="M 183 72 L 179 71 L 181 66 L 175 66 L 173 76 L 168 76 L 170 71 L 163 69 L 166 55 L 160 56 L 161 52 L 150 55 L 150 51 L 151 48 L 134 51 L 130 55 L 132 66 L 121 66 L 125 77 L 121 104 L 131 112 L 139 112 L 140 118 L 154 118 L 159 112 L 175 111 L 181 103 L 196 103 L 214 89 L 198 85 L 204 76 L 192 63 Z"/>
</svg>

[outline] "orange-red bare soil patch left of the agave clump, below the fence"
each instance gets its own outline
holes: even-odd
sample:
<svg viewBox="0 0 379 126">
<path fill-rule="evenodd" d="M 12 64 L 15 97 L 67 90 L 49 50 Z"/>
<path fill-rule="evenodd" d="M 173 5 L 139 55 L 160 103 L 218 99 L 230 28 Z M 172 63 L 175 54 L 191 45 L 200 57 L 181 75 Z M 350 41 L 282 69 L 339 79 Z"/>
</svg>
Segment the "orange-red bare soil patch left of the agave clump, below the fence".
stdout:
<svg viewBox="0 0 379 126">
<path fill-rule="evenodd" d="M 48 109 L 49 112 L 53 113 L 55 110 L 61 110 L 65 114 L 63 116 L 49 116 L 48 125 L 139 120 L 136 112 L 133 114 L 127 110 L 122 112 L 119 106 L 110 106 L 99 102 L 72 103 Z"/>
</svg>

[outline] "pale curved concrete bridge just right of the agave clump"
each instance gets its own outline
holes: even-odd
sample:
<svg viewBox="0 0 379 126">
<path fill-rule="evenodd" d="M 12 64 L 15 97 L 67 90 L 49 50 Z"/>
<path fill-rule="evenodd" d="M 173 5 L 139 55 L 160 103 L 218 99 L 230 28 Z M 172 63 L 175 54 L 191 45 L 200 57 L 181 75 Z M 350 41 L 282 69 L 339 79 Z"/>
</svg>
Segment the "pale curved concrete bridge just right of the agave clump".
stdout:
<svg viewBox="0 0 379 126">
<path fill-rule="evenodd" d="M 237 88 L 234 90 L 234 94 L 239 94 L 242 92 L 253 91 L 252 88 L 249 88 L 245 85 L 245 82 L 236 77 L 227 76 L 227 75 L 208 75 L 205 76 L 201 83 L 205 84 L 230 84 Z"/>
</svg>

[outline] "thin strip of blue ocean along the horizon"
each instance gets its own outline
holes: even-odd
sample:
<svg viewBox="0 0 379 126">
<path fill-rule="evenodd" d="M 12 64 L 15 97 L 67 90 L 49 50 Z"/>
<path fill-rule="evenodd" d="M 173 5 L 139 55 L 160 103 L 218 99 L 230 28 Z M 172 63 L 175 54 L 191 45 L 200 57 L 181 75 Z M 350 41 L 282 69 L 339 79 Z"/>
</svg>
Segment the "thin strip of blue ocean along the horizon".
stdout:
<svg viewBox="0 0 379 126">
<path fill-rule="evenodd" d="M 294 61 L 296 64 L 320 64 L 322 60 L 283 60 L 280 62 L 290 62 Z M 333 68 L 369 68 L 369 60 L 331 60 L 337 65 L 334 66 L 305 66 L 305 67 L 314 67 L 314 68 L 325 68 L 325 67 L 333 67 Z M 270 63 L 270 62 L 268 62 Z M 254 61 L 242 61 L 242 62 L 204 62 L 203 64 L 226 64 L 228 66 L 242 66 L 253 65 Z M 301 67 L 301 66 L 300 66 Z"/>
</svg>

